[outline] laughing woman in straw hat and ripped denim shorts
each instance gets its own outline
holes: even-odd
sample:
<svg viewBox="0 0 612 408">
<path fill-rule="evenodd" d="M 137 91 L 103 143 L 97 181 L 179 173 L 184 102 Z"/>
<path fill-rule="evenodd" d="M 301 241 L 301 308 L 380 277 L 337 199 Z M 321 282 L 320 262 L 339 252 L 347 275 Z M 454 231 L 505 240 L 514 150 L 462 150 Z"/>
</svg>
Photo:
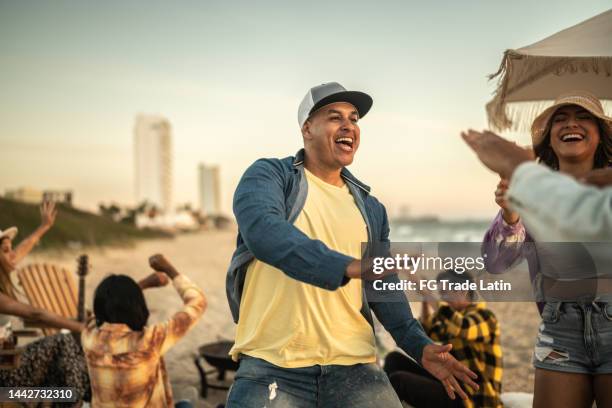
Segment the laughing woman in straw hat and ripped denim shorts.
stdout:
<svg viewBox="0 0 612 408">
<path fill-rule="evenodd" d="M 612 165 L 612 118 L 586 92 L 561 95 L 533 122 L 533 151 L 556 171 L 584 179 Z M 534 407 L 612 406 L 612 291 L 598 290 L 592 254 L 581 244 L 533 240 L 509 208 L 507 180 L 495 191 L 501 207 L 487 231 L 487 269 L 501 273 L 526 260 L 542 324 L 534 351 Z M 590 220 L 597 222 L 597 220 Z M 556 274 L 551 278 L 552 274 Z M 543 291 L 570 280 L 561 292 Z M 582 280 L 581 280 L 582 279 Z"/>
</svg>

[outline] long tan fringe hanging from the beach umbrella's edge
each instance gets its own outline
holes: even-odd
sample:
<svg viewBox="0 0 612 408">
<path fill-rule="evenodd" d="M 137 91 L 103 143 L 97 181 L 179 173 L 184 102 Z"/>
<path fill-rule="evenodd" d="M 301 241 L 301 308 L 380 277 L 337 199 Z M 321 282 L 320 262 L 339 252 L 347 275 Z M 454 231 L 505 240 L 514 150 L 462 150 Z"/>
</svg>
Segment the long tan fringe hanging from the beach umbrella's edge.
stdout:
<svg viewBox="0 0 612 408">
<path fill-rule="evenodd" d="M 517 71 L 519 69 L 516 65 L 517 60 L 521 60 L 520 71 Z M 612 76 L 612 57 L 542 57 L 506 50 L 497 72 L 488 76 L 490 81 L 497 78 L 494 97 L 486 105 L 489 126 L 500 131 L 529 129 L 533 119 L 539 112 L 550 106 L 551 101 L 529 102 L 527 108 L 509 109 L 506 96 L 538 80 L 543 75 L 565 75 L 576 72 L 594 72 L 598 75 Z M 510 77 L 522 80 L 509 88 Z"/>
</svg>

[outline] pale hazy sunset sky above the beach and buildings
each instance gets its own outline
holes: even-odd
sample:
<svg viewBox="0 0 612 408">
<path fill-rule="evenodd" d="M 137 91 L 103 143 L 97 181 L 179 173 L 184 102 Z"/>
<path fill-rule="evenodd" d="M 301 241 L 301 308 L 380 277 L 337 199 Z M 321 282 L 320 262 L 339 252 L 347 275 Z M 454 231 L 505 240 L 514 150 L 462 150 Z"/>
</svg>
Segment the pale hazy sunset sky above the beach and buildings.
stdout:
<svg viewBox="0 0 612 408">
<path fill-rule="evenodd" d="M 503 51 L 610 8 L 552 1 L 0 0 L 0 193 L 71 189 L 134 203 L 139 113 L 172 125 L 173 201 L 197 207 L 197 166 L 222 206 L 260 157 L 301 146 L 297 107 L 323 82 L 369 93 L 351 171 L 397 215 L 490 218 L 497 176 L 461 141 L 486 127 Z M 521 144 L 526 134 L 505 136 Z"/>
</svg>

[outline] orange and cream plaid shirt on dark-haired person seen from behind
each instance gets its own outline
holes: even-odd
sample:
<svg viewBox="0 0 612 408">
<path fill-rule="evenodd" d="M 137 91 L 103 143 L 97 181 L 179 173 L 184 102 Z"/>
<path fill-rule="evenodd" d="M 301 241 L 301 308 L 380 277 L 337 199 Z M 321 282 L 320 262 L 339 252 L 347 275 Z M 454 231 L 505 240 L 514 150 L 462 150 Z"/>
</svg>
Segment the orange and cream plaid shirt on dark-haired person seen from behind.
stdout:
<svg viewBox="0 0 612 408">
<path fill-rule="evenodd" d="M 205 308 L 202 291 L 184 275 L 173 279 L 184 306 L 170 320 L 143 331 L 125 324 L 88 322 L 81 334 L 92 407 L 172 407 L 163 355 L 195 325 Z"/>
</svg>

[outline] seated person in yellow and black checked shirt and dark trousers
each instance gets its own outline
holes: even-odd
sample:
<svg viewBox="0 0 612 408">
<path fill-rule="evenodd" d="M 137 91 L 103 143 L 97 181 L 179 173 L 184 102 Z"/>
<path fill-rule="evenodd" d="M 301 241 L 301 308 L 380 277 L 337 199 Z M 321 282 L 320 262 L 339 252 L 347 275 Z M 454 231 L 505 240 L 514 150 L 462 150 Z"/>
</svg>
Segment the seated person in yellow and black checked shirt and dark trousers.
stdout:
<svg viewBox="0 0 612 408">
<path fill-rule="evenodd" d="M 473 282 L 467 272 L 458 274 L 452 270 L 440 273 L 437 280 Z M 453 345 L 450 353 L 478 374 L 474 381 L 480 388 L 466 387 L 467 400 L 451 400 L 440 381 L 399 352 L 385 358 L 384 369 L 391 385 L 401 400 L 416 408 L 502 407 L 502 351 L 495 314 L 484 302 L 474 301 L 474 291 L 442 291 L 441 295 L 444 301 L 437 303 L 433 314 L 432 304 L 423 301 L 421 324 L 434 341 Z"/>
</svg>

